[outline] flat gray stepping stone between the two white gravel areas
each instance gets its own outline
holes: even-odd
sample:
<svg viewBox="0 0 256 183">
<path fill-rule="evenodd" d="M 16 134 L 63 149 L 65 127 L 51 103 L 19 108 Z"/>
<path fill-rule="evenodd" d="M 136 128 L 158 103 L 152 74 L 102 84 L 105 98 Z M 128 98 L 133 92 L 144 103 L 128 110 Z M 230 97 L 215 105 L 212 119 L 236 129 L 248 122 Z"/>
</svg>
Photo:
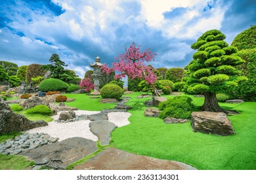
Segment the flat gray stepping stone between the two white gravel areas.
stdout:
<svg viewBox="0 0 256 183">
<path fill-rule="evenodd" d="M 117 125 L 108 120 L 95 120 L 89 124 L 90 131 L 98 137 L 100 140 L 100 145 L 110 144 L 110 134 L 117 127 Z"/>
</svg>

